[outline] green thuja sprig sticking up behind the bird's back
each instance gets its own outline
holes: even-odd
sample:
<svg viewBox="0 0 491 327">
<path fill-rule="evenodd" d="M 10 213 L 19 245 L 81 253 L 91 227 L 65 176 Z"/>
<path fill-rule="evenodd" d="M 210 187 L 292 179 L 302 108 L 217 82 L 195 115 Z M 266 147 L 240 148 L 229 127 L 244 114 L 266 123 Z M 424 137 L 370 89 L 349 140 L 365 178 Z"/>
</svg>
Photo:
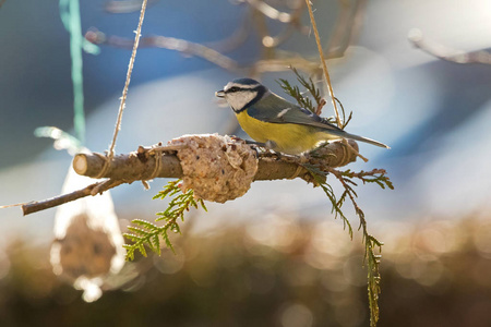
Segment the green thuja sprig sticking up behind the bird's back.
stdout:
<svg viewBox="0 0 491 327">
<path fill-rule="evenodd" d="M 297 100 L 298 105 L 302 108 L 309 109 L 310 111 L 312 111 L 313 113 L 320 116 L 322 108 L 324 107 L 324 105 L 326 104 L 325 99 L 322 97 L 321 95 L 321 90 L 315 87 L 314 82 L 312 81 L 312 78 L 306 78 L 304 76 L 302 76 L 297 69 L 290 66 L 291 71 L 294 72 L 294 74 L 297 77 L 297 81 L 300 83 L 300 85 L 302 87 L 306 88 L 304 92 L 300 90 L 300 87 L 297 85 L 291 85 L 288 80 L 284 80 L 284 78 L 279 78 L 277 81 L 277 83 L 279 84 L 279 86 L 282 86 L 283 90 L 288 94 L 289 96 L 291 96 L 294 99 Z M 315 105 L 313 104 L 313 101 L 310 99 L 309 96 L 306 96 L 307 94 L 310 94 L 310 96 L 314 99 Z M 349 112 L 348 118 L 346 118 L 346 113 L 345 113 L 345 108 L 343 107 L 343 104 L 339 101 L 338 98 L 334 98 L 334 100 L 339 104 L 340 107 L 340 113 L 342 113 L 342 125 L 339 126 L 340 129 L 345 129 L 346 125 L 348 124 L 348 122 L 351 120 L 352 118 L 352 111 Z M 324 118 L 326 122 L 335 124 L 336 120 L 334 117 L 330 117 L 330 118 Z"/>
</svg>

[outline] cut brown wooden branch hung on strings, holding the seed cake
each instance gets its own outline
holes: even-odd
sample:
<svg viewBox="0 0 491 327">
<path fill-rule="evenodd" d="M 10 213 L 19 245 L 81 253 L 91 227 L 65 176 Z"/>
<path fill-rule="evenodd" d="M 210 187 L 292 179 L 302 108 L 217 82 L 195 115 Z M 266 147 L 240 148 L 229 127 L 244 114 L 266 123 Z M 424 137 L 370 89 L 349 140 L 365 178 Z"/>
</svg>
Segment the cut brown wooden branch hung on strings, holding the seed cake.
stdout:
<svg viewBox="0 0 491 327">
<path fill-rule="evenodd" d="M 358 150 L 355 141 L 348 141 Z M 123 183 L 145 181 L 154 178 L 182 178 L 182 168 L 175 152 L 176 146 L 140 146 L 136 152 L 118 155 L 105 167 L 107 157 L 101 154 L 79 154 L 73 158 L 73 169 L 82 175 L 91 178 L 107 178 L 103 182 L 91 184 L 82 190 L 51 197 L 40 202 L 22 204 L 24 215 L 45 210 L 72 202 L 88 195 L 100 194 Z M 301 178 L 312 182 L 310 172 L 301 167 L 310 164 L 324 169 L 325 167 L 342 167 L 356 160 L 356 154 L 348 149 L 343 142 L 333 142 L 315 149 L 302 157 L 277 156 L 263 153 L 258 156 L 259 166 L 254 181 L 282 180 Z M 160 162 L 158 162 L 160 160 Z"/>
</svg>

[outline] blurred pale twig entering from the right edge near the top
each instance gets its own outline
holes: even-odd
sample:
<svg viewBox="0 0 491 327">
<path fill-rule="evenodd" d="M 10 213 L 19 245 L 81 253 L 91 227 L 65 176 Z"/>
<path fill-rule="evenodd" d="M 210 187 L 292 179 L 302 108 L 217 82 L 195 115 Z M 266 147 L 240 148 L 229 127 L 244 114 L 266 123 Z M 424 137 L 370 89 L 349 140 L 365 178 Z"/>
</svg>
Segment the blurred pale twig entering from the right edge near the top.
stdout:
<svg viewBox="0 0 491 327">
<path fill-rule="evenodd" d="M 424 38 L 422 32 L 418 28 L 409 31 L 408 39 L 410 43 L 412 43 L 415 47 L 442 60 L 463 64 L 464 63 L 491 64 L 491 53 L 489 53 L 488 51 L 479 50 L 472 52 L 465 52 L 462 50 L 452 49 Z"/>
</svg>

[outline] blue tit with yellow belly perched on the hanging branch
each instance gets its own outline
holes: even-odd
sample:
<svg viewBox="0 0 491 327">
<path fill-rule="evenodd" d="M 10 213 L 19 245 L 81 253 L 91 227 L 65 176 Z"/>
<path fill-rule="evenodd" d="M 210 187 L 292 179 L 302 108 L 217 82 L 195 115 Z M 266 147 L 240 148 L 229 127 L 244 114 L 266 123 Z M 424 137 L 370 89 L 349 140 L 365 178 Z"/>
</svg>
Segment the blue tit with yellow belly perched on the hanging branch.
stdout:
<svg viewBox="0 0 491 327">
<path fill-rule="evenodd" d="M 320 143 L 342 138 L 390 148 L 383 143 L 346 133 L 251 78 L 235 80 L 215 95 L 227 100 L 249 136 L 275 152 L 298 155 L 314 149 Z"/>
</svg>

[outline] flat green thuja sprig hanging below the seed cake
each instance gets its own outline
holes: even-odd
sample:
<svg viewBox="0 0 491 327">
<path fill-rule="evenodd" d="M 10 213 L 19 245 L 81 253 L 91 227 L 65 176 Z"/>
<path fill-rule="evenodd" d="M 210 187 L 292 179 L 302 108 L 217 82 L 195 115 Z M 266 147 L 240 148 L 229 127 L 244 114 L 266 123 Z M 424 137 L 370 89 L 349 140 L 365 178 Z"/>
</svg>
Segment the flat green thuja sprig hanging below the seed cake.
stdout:
<svg viewBox="0 0 491 327">
<path fill-rule="evenodd" d="M 153 252 L 160 255 L 160 239 L 164 240 L 167 247 L 173 251 L 172 243 L 169 239 L 169 230 L 175 233 L 180 233 L 178 220 L 184 221 L 184 213 L 189 211 L 191 207 L 197 208 L 200 205 L 205 211 L 206 206 L 201 198 L 194 198 L 194 192 L 192 189 L 182 193 L 179 187 L 180 180 L 170 181 L 164 186 L 164 190 L 158 192 L 153 198 L 164 199 L 167 196 L 175 196 L 168 204 L 165 211 L 157 213 L 158 218 L 155 221 L 165 221 L 164 226 L 157 226 L 153 222 L 134 219 L 131 222 L 134 226 L 129 226 L 130 233 L 124 233 L 124 238 L 133 242 L 132 244 L 124 244 L 127 250 L 127 259 L 134 259 L 135 251 L 140 251 L 143 256 L 146 256 L 145 245 Z"/>
</svg>

